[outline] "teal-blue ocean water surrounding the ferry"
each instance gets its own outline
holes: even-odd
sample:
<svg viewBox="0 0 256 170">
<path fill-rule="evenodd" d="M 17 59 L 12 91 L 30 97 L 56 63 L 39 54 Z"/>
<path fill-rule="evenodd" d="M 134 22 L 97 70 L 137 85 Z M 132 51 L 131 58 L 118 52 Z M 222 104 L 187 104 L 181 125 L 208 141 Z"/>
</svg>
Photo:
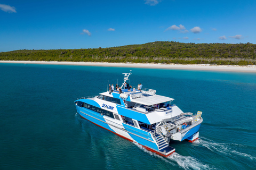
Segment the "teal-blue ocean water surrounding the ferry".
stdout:
<svg viewBox="0 0 256 170">
<path fill-rule="evenodd" d="M 155 89 L 202 111 L 199 139 L 164 158 L 76 115 L 78 97 L 109 83 Z M 256 74 L 1 64 L 0 169 L 256 169 Z"/>
</svg>

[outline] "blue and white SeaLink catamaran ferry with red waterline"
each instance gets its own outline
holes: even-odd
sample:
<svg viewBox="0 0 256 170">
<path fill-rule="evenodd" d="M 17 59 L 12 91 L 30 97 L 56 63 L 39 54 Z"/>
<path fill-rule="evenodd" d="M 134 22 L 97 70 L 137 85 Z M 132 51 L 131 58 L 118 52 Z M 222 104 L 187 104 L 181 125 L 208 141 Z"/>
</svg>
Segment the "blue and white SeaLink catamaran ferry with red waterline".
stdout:
<svg viewBox="0 0 256 170">
<path fill-rule="evenodd" d="M 121 89 L 132 72 L 123 74 Z M 203 122 L 202 112 L 183 113 L 171 104 L 173 100 L 156 95 L 153 89 L 136 88 L 78 98 L 75 106 L 77 113 L 86 120 L 167 157 L 175 151 L 169 146 L 170 140 L 195 141 Z"/>
</svg>

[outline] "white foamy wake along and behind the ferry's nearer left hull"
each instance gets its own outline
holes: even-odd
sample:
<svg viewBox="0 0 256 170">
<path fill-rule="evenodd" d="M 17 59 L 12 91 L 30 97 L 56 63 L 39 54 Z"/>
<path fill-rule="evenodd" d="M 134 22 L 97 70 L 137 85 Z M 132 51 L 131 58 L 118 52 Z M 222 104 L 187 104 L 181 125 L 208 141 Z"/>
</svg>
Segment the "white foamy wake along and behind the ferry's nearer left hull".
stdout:
<svg viewBox="0 0 256 170">
<path fill-rule="evenodd" d="M 162 156 L 159 156 L 155 154 L 154 152 L 151 152 L 145 148 L 143 148 L 141 145 L 139 145 L 137 142 L 133 142 L 136 146 L 138 146 L 141 150 L 147 152 L 151 156 L 158 157 L 162 160 L 164 160 L 166 163 L 171 164 L 172 166 L 178 166 L 183 169 L 217 169 L 215 167 L 212 167 L 210 165 L 205 165 L 196 158 L 193 158 L 191 156 L 182 156 L 178 154 L 177 152 L 174 152 L 172 155 L 170 155 L 167 158 L 164 158 Z"/>
</svg>

